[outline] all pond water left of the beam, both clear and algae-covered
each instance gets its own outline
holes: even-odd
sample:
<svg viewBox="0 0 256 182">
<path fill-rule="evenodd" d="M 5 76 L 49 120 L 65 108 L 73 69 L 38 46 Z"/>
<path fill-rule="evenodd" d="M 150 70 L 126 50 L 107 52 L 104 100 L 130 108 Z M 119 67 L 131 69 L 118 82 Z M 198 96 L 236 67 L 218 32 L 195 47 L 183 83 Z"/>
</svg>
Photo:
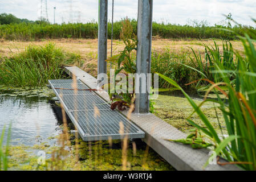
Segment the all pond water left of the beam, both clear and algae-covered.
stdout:
<svg viewBox="0 0 256 182">
<path fill-rule="evenodd" d="M 58 153 L 60 146 L 58 138 L 63 133 L 61 110 L 52 97 L 54 94 L 47 88 L 1 90 L 0 87 L 0 134 L 3 127 L 8 128 L 11 123 L 10 169 L 46 169 L 45 166 L 38 167 L 36 164 L 38 151 L 42 150 L 46 152 L 47 162 L 52 164 L 52 154 L 56 151 Z M 72 127 L 72 124 L 70 123 L 69 126 Z M 133 148 L 134 144 L 137 146 L 136 151 Z M 61 159 L 63 164 L 61 168 L 55 166 L 52 169 L 122 169 L 121 140 L 112 141 L 111 147 L 108 141 L 91 143 L 80 141 L 78 148 L 79 163 L 73 162 L 68 155 L 65 159 Z M 72 152 L 70 154 L 72 155 Z M 172 166 L 151 148 L 147 148 L 141 140 L 129 141 L 127 164 L 127 169 L 132 170 L 173 170 Z"/>
</svg>

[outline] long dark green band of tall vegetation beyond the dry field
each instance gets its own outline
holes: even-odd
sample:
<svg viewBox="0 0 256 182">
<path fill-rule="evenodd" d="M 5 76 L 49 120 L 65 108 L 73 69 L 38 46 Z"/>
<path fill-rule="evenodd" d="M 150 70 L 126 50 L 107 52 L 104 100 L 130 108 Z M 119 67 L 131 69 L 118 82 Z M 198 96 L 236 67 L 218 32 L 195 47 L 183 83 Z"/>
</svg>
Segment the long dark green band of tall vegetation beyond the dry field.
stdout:
<svg viewBox="0 0 256 182">
<path fill-rule="evenodd" d="M 137 31 L 136 20 L 131 20 L 133 32 Z M 226 28 L 230 31 L 225 31 Z M 160 36 L 165 39 L 237 39 L 236 34 L 243 34 L 252 27 L 246 26 L 189 26 L 176 24 L 162 24 L 153 22 L 153 36 Z M 254 30 L 254 29 L 251 29 Z M 113 38 L 120 39 L 121 21 L 113 25 Z M 233 32 L 231 32 L 233 31 Z M 255 30 L 254 30 L 255 31 Z M 108 24 L 108 36 L 111 37 L 111 24 Z M 69 24 L 50 24 L 50 23 L 11 23 L 0 25 L 0 38 L 7 40 L 38 40 L 56 38 L 97 38 L 97 23 L 69 23 Z"/>
</svg>

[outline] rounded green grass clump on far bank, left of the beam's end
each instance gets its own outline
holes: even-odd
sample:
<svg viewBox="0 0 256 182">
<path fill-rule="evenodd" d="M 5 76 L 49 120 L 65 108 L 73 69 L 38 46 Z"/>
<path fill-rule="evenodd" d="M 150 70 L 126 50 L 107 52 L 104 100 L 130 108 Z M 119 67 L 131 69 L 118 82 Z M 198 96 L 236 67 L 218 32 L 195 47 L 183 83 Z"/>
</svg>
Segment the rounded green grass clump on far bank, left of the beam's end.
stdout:
<svg viewBox="0 0 256 182">
<path fill-rule="evenodd" d="M 52 43 L 29 46 L 17 55 L 0 58 L 0 85 L 43 86 L 49 79 L 62 78 L 63 66 L 80 59 L 80 56 L 66 53 Z"/>
</svg>

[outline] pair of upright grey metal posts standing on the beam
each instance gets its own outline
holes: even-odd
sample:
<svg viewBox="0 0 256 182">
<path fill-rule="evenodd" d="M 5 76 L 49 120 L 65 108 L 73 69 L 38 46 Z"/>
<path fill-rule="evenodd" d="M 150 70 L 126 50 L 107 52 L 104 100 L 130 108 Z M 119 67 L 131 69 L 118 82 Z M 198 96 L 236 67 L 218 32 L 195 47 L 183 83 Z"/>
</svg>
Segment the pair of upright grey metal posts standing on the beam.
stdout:
<svg viewBox="0 0 256 182">
<path fill-rule="evenodd" d="M 137 24 L 137 74 L 151 73 L 152 45 L 152 12 L 153 0 L 138 0 Z M 99 32 L 98 32 L 98 74 L 107 73 L 107 38 L 108 38 L 108 1 L 99 0 Z M 145 84 L 145 83 L 144 83 Z M 139 81 L 139 89 L 143 85 Z M 149 90 L 147 82 L 147 89 Z M 136 113 L 149 113 L 149 93 L 137 93 L 135 101 Z"/>
</svg>

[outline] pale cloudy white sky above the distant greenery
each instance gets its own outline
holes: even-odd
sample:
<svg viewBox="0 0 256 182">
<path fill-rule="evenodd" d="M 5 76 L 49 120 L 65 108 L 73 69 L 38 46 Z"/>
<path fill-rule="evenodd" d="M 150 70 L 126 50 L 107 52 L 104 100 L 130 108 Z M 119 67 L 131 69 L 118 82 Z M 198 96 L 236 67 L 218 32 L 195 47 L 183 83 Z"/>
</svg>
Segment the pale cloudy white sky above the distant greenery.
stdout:
<svg viewBox="0 0 256 182">
<path fill-rule="evenodd" d="M 0 0 L 0 13 L 11 13 L 18 18 L 36 20 L 40 16 L 41 0 Z M 51 23 L 97 21 L 98 0 L 48 0 L 47 13 Z M 138 0 L 115 0 L 115 20 L 137 19 Z M 112 0 L 108 1 L 108 19 L 111 19 Z M 72 5 L 72 6 L 71 6 Z M 72 11 L 71 11 L 72 10 Z M 70 16 L 72 12 L 72 16 Z M 231 13 L 238 23 L 255 26 L 256 0 L 154 0 L 153 21 L 187 24 L 192 20 L 207 20 L 210 24 L 223 23 L 224 15 Z"/>
</svg>

